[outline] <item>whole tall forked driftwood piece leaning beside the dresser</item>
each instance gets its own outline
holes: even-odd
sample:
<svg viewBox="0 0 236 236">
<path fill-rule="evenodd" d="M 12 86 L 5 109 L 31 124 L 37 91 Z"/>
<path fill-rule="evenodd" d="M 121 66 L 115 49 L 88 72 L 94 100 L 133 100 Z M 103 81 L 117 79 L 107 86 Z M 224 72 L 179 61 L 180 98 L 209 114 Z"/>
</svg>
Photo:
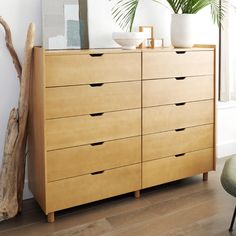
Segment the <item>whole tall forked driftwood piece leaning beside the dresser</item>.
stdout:
<svg viewBox="0 0 236 236">
<path fill-rule="evenodd" d="M 7 126 L 2 169 L 0 172 L 0 221 L 14 217 L 22 210 L 22 196 L 25 177 L 27 142 L 27 119 L 29 107 L 29 82 L 34 44 L 35 27 L 30 24 L 25 43 L 23 66 L 12 44 L 8 24 L 0 17 L 6 36 L 6 46 L 10 52 L 20 80 L 18 109 L 13 108 Z"/>
</svg>

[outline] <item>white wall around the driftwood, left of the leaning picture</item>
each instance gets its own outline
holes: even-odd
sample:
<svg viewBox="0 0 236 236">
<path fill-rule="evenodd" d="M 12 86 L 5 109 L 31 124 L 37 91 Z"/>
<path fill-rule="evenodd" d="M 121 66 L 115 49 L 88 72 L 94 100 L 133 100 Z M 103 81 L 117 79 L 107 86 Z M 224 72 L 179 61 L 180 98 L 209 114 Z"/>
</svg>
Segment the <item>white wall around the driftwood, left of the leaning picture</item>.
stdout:
<svg viewBox="0 0 236 236">
<path fill-rule="evenodd" d="M 1 1 L 0 16 L 10 25 L 13 43 L 22 61 L 24 42 L 30 22 L 36 24 L 36 44 L 41 44 L 41 3 L 39 0 Z M 4 31 L 0 28 L 0 163 L 9 112 L 17 106 L 19 81 L 9 53 L 5 47 Z M 26 184 L 27 187 L 27 184 Z M 24 197 L 30 197 L 25 190 Z"/>
</svg>

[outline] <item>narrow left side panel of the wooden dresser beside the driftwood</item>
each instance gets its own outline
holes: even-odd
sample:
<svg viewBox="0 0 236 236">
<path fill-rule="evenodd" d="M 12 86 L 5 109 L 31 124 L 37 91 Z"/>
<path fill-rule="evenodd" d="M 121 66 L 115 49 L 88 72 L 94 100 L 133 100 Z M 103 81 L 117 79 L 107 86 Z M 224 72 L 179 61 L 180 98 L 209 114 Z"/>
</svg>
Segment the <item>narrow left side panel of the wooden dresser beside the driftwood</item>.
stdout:
<svg viewBox="0 0 236 236">
<path fill-rule="evenodd" d="M 29 107 L 29 187 L 41 208 L 46 209 L 46 171 L 44 139 L 44 55 L 34 48 L 33 78 L 30 83 Z"/>
</svg>

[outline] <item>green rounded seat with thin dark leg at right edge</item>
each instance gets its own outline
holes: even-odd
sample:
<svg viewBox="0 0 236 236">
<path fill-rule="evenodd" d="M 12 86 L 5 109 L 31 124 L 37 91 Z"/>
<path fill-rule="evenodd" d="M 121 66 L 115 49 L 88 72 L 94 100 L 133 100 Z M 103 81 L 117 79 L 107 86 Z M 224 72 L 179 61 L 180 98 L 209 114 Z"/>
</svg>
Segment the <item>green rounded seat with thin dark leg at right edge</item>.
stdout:
<svg viewBox="0 0 236 236">
<path fill-rule="evenodd" d="M 236 197 L 236 156 L 231 157 L 225 162 L 221 174 L 221 184 L 227 193 Z M 235 215 L 236 215 L 236 207 L 234 209 L 233 218 L 229 228 L 230 232 L 233 231 Z"/>
</svg>

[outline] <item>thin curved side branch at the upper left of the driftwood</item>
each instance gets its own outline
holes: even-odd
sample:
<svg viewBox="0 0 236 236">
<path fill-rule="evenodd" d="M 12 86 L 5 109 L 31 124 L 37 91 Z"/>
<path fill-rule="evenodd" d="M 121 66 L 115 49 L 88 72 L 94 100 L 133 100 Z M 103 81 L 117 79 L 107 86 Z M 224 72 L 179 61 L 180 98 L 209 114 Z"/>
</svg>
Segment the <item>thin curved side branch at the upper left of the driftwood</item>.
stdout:
<svg viewBox="0 0 236 236">
<path fill-rule="evenodd" d="M 11 54 L 13 64 L 14 64 L 16 72 L 17 72 L 17 76 L 19 79 L 21 79 L 22 68 L 21 68 L 19 58 L 18 58 L 16 51 L 15 51 L 13 44 L 12 44 L 11 30 L 10 30 L 7 22 L 1 16 L 0 16 L 0 24 L 3 26 L 3 28 L 5 30 L 6 46 L 8 48 L 8 51 Z"/>
</svg>

